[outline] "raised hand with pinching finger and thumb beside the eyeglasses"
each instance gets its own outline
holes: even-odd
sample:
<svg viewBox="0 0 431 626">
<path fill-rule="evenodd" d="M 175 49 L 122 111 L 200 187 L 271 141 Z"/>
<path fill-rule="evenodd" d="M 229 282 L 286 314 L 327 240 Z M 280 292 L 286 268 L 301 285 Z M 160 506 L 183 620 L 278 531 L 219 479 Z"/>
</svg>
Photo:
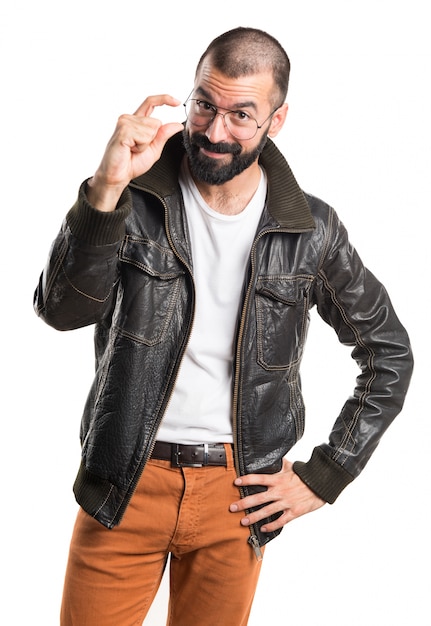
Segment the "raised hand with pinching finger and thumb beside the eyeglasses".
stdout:
<svg viewBox="0 0 431 626">
<path fill-rule="evenodd" d="M 94 207 L 113 211 L 130 180 L 147 172 L 160 158 L 167 140 L 183 125 L 162 124 L 151 115 L 155 107 L 179 104 L 179 100 L 167 94 L 149 96 L 133 115 L 118 118 L 102 161 L 88 181 L 88 200 Z"/>
</svg>

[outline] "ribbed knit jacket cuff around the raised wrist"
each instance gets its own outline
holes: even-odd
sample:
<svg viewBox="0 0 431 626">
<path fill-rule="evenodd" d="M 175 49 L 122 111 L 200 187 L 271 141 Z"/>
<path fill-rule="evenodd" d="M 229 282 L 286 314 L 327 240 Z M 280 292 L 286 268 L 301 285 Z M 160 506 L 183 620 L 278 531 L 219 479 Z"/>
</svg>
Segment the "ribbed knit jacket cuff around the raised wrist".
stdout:
<svg viewBox="0 0 431 626">
<path fill-rule="evenodd" d="M 103 246 L 121 241 L 125 234 L 125 219 L 132 210 L 129 189 L 121 194 L 117 208 L 112 212 L 98 211 L 87 200 L 87 181 L 79 189 L 78 198 L 66 215 L 73 235 L 93 246 Z"/>
</svg>

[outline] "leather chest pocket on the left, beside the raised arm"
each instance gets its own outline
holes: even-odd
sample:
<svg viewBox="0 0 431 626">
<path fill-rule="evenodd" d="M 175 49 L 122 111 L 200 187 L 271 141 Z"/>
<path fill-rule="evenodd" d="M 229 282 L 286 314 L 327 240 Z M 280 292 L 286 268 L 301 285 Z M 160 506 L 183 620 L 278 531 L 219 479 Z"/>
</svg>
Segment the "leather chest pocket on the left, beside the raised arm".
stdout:
<svg viewBox="0 0 431 626">
<path fill-rule="evenodd" d="M 123 265 L 114 323 L 121 334 L 156 345 L 175 315 L 181 315 L 184 269 L 170 248 L 130 235 L 119 258 Z"/>
</svg>

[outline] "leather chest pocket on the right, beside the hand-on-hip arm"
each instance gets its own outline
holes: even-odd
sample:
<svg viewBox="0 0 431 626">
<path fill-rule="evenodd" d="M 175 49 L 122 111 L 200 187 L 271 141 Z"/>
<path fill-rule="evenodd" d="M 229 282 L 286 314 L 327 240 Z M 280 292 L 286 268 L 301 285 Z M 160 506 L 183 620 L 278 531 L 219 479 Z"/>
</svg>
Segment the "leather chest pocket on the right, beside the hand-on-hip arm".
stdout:
<svg viewBox="0 0 431 626">
<path fill-rule="evenodd" d="M 259 277 L 256 285 L 258 363 L 289 369 L 302 357 L 308 328 L 310 276 Z"/>
</svg>

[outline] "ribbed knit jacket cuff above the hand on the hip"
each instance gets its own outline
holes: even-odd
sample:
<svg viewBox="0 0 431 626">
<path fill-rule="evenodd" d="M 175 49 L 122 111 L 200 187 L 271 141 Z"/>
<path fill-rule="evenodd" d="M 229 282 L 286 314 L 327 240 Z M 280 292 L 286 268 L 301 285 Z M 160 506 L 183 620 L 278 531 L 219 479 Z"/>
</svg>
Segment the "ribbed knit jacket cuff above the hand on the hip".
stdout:
<svg viewBox="0 0 431 626">
<path fill-rule="evenodd" d="M 319 447 L 314 448 L 307 463 L 295 461 L 292 469 L 319 498 L 329 504 L 335 502 L 354 478 Z"/>
</svg>

